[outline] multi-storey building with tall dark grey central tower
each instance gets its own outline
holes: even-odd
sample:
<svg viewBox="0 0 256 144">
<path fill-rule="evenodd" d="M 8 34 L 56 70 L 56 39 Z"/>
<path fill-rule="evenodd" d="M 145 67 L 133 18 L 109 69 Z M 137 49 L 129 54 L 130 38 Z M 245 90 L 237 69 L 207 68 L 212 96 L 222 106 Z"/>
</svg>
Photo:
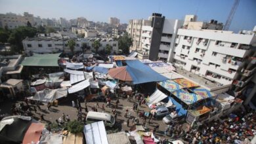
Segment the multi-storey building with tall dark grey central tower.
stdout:
<svg viewBox="0 0 256 144">
<path fill-rule="evenodd" d="M 173 49 L 181 20 L 168 20 L 161 14 L 152 14 L 149 20 L 130 20 L 127 31 L 133 39 L 130 51 L 136 50 L 139 59 L 167 61 Z"/>
</svg>

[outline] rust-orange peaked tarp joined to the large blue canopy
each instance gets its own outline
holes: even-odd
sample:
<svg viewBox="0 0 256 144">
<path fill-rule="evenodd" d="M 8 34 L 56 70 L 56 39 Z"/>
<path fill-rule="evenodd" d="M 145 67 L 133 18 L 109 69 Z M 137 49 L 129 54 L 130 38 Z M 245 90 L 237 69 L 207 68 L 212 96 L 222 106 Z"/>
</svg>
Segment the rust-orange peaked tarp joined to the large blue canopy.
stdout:
<svg viewBox="0 0 256 144">
<path fill-rule="evenodd" d="M 131 75 L 126 70 L 126 66 L 110 69 L 110 71 L 108 71 L 108 75 L 110 75 L 114 79 L 119 79 L 121 81 L 133 81 Z"/>
</svg>

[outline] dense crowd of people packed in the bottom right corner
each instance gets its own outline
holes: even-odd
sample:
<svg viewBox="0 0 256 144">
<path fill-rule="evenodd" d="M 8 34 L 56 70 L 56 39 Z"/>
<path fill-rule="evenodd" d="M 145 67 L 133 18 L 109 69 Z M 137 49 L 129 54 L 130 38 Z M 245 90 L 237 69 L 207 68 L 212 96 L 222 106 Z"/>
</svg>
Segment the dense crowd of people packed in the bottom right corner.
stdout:
<svg viewBox="0 0 256 144">
<path fill-rule="evenodd" d="M 223 120 L 203 124 L 182 134 L 190 143 L 247 143 L 256 135 L 255 111 L 238 111 Z M 249 144 L 249 142 L 248 142 Z"/>
</svg>

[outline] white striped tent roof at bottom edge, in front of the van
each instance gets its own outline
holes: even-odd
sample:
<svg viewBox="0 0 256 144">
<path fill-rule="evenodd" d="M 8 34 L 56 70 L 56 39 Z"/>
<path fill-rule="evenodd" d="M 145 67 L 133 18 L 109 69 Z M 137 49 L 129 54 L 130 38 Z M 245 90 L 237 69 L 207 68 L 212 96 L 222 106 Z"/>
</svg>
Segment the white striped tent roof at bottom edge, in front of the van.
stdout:
<svg viewBox="0 0 256 144">
<path fill-rule="evenodd" d="M 83 132 L 87 144 L 108 144 L 108 137 L 103 121 L 85 125 Z"/>
</svg>

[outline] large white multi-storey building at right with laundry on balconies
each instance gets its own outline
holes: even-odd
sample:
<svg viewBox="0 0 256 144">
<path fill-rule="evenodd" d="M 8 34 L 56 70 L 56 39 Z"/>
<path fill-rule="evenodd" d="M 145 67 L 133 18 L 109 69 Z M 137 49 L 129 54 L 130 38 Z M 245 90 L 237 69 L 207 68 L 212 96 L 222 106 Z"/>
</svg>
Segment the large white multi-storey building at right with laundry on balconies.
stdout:
<svg viewBox="0 0 256 144">
<path fill-rule="evenodd" d="M 169 62 L 221 84 L 237 79 L 236 85 L 242 86 L 256 69 L 247 62 L 256 55 L 251 48 L 255 43 L 254 33 L 179 29 Z"/>
</svg>

